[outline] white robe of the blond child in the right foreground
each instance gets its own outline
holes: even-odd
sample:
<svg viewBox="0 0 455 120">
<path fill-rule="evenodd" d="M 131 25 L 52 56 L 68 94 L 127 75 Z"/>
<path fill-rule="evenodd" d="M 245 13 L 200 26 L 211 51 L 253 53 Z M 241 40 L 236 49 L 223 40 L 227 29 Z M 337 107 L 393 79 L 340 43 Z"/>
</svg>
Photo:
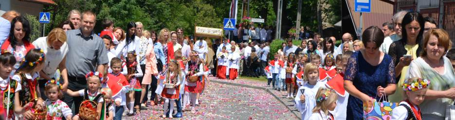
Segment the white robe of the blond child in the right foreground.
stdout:
<svg viewBox="0 0 455 120">
<path fill-rule="evenodd" d="M 294 99 L 295 107 L 300 111 L 300 114 L 302 114 L 302 120 L 309 120 L 309 117 L 313 113 L 312 110 L 314 106 L 316 106 L 316 93 L 320 87 L 325 88 L 324 83 L 318 81 L 316 85 L 310 85 L 308 82 L 306 82 L 297 91 L 297 95 Z M 300 92 L 301 89 L 305 89 L 305 93 L 303 93 L 305 95 L 305 103 L 300 102 L 300 95 L 302 95 Z"/>
</svg>

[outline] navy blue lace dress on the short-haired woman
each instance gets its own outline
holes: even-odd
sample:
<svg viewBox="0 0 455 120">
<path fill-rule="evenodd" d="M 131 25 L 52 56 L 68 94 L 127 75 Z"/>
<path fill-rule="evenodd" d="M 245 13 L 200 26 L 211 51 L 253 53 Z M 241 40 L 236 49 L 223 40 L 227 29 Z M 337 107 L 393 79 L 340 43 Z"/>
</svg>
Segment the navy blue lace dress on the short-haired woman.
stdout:
<svg viewBox="0 0 455 120">
<path fill-rule="evenodd" d="M 387 84 L 395 84 L 395 65 L 392 58 L 385 54 L 381 63 L 376 66 L 369 64 L 360 51 L 355 52 L 347 61 L 345 80 L 361 92 L 370 97 L 376 96 L 376 88 Z M 349 95 L 346 111 L 346 120 L 363 119 L 363 102 L 361 99 Z"/>
</svg>

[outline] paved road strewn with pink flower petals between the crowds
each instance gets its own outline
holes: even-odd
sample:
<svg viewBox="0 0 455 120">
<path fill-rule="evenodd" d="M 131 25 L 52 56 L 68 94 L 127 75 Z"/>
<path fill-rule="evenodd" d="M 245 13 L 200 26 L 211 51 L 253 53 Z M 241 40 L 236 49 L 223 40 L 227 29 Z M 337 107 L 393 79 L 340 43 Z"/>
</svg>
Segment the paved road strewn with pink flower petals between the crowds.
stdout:
<svg viewBox="0 0 455 120">
<path fill-rule="evenodd" d="M 297 120 L 288 108 L 266 90 L 209 83 L 201 95 L 195 114 L 183 112 L 183 120 Z M 163 105 L 142 110 L 142 114 L 124 120 L 163 119 Z"/>
</svg>

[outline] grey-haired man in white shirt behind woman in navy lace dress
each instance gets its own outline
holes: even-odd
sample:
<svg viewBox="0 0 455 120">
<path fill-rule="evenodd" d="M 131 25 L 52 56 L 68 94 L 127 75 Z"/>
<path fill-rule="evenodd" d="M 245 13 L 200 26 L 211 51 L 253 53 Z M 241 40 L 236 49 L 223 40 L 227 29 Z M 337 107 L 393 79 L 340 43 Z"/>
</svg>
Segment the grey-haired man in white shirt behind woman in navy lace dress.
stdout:
<svg viewBox="0 0 455 120">
<path fill-rule="evenodd" d="M 401 21 L 403 20 L 404 15 L 406 15 L 407 13 L 408 13 L 407 11 L 400 11 L 393 15 L 392 20 L 393 25 L 395 26 L 394 27 L 395 34 L 384 38 L 384 42 L 379 47 L 380 51 L 384 52 L 385 54 L 388 54 L 390 45 L 393 42 L 401 39 Z"/>
</svg>

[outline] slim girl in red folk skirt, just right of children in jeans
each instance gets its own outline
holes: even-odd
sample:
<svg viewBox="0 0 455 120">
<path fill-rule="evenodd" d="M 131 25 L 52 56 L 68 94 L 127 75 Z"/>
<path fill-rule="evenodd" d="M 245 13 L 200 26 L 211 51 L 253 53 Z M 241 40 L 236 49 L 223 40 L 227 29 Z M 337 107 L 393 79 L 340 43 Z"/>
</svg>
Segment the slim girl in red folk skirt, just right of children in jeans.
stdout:
<svg viewBox="0 0 455 120">
<path fill-rule="evenodd" d="M 285 66 L 284 68 L 286 69 L 286 86 L 288 90 L 288 97 L 287 98 L 294 98 L 293 96 L 293 90 L 294 90 L 294 80 L 293 76 L 295 74 L 292 74 L 292 69 L 294 68 L 294 63 L 295 63 L 295 55 L 294 53 L 289 53 L 288 55 L 288 60 L 284 62 Z"/>
</svg>

